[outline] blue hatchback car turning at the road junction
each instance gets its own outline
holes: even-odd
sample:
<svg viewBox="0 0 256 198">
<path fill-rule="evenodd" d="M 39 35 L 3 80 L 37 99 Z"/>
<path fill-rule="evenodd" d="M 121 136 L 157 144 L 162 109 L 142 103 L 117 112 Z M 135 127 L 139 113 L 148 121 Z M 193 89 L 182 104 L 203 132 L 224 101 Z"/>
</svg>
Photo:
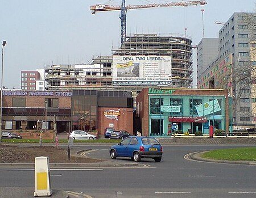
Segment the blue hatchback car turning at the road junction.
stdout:
<svg viewBox="0 0 256 198">
<path fill-rule="evenodd" d="M 130 136 L 113 145 L 109 153 L 112 159 L 130 157 L 134 162 L 139 162 L 142 158 L 152 158 L 155 162 L 160 162 L 163 148 L 154 137 Z"/>
</svg>

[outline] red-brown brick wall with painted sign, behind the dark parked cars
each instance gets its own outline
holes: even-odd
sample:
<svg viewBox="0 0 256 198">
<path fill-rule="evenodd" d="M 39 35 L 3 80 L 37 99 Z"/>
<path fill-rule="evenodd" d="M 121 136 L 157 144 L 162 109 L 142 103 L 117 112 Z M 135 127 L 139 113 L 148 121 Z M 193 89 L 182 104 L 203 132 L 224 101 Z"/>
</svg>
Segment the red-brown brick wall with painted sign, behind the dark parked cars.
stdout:
<svg viewBox="0 0 256 198">
<path fill-rule="evenodd" d="M 120 115 L 117 116 L 117 119 L 108 119 L 104 112 L 108 112 L 109 110 L 119 111 Z M 119 110 L 118 110 L 119 109 Z M 129 133 L 133 134 L 133 109 L 132 108 L 106 108 L 100 107 L 98 108 L 98 135 L 100 137 L 104 137 L 104 129 L 109 127 L 109 124 L 114 124 L 114 128 L 116 130 L 127 130 Z"/>
</svg>

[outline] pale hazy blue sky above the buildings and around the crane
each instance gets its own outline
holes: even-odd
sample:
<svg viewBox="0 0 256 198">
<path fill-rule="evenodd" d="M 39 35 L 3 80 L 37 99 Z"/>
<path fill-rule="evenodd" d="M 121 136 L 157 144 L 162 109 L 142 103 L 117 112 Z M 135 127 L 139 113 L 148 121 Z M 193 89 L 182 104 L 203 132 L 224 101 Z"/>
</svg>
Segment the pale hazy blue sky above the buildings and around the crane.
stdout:
<svg viewBox="0 0 256 198">
<path fill-rule="evenodd" d="M 126 5 L 181 1 L 126 0 Z M 205 6 L 127 10 L 127 35 L 181 34 L 191 36 L 192 44 L 197 45 L 203 34 L 206 38 L 218 37 L 221 25 L 214 22 L 226 22 L 234 12 L 254 12 L 256 3 L 256 0 L 206 1 Z M 3 86 L 20 89 L 23 70 L 35 71 L 52 64 L 89 64 L 93 57 L 112 55 L 112 49 L 120 45 L 120 11 L 93 15 L 90 5 L 96 4 L 118 6 L 121 0 L 0 0 L 1 49 L 2 41 L 6 40 Z M 195 49 L 193 68 L 196 68 Z M 196 80 L 196 69 L 193 79 Z"/>
</svg>

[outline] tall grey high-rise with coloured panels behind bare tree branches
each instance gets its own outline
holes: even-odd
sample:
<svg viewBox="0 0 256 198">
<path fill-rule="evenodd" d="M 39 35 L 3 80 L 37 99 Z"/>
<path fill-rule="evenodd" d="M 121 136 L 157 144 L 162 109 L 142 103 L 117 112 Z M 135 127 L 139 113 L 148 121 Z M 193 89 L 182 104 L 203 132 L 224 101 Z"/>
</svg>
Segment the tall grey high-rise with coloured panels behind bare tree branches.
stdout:
<svg viewBox="0 0 256 198">
<path fill-rule="evenodd" d="M 233 102 L 230 117 L 233 129 L 255 128 L 256 125 L 255 19 L 255 13 L 235 12 L 218 32 L 218 53 L 217 50 L 212 52 L 213 61 L 197 63 L 197 88 L 229 91 Z M 200 43 L 204 43 L 204 39 Z M 200 56 L 197 59 L 204 60 L 209 52 L 203 51 Z"/>
</svg>

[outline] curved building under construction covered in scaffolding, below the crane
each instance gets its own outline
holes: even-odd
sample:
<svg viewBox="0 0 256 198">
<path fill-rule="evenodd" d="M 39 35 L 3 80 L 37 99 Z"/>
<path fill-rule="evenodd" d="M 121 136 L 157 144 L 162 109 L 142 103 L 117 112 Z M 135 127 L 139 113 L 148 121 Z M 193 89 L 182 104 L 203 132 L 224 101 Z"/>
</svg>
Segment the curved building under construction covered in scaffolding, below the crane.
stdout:
<svg viewBox="0 0 256 198">
<path fill-rule="evenodd" d="M 113 64 L 113 57 L 164 57 L 169 61 L 169 66 L 164 65 L 164 69 L 159 69 L 158 78 L 154 77 L 154 82 L 148 84 L 148 78 L 141 84 L 129 85 L 129 83 L 114 83 L 114 75 L 124 75 L 127 82 L 130 77 L 137 82 L 141 74 L 127 73 L 128 66 L 125 64 Z M 143 69 L 147 61 L 140 62 L 140 70 Z M 130 64 L 130 63 L 129 63 Z M 153 65 L 157 66 L 158 63 Z M 119 68 L 116 69 L 116 65 Z M 133 69 L 135 70 L 135 69 Z M 164 70 L 169 70 L 164 80 L 168 83 L 162 84 L 162 74 Z M 51 65 L 46 66 L 46 89 L 97 89 L 97 90 L 124 90 L 131 91 L 134 98 L 145 87 L 191 87 L 192 83 L 192 39 L 184 35 L 158 35 L 158 34 L 135 34 L 127 36 L 125 43 L 118 49 L 113 49 L 112 56 L 98 56 L 93 58 L 90 65 Z M 115 72 L 115 73 L 113 73 Z M 139 71 L 141 72 L 141 71 Z M 153 72 L 157 73 L 157 72 Z M 144 71 L 143 71 L 144 75 Z M 121 78 L 122 81 L 122 78 Z M 146 82 L 146 83 L 145 83 Z M 134 101 L 135 102 L 135 101 Z"/>
</svg>

